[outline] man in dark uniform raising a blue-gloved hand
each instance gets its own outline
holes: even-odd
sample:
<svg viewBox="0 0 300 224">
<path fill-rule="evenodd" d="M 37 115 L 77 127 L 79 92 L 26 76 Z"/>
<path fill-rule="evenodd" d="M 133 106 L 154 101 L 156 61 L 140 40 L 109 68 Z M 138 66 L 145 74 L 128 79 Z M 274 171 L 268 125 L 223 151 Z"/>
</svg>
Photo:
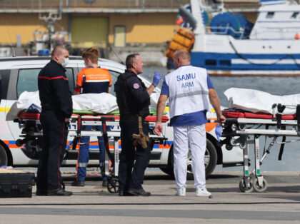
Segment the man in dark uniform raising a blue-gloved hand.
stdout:
<svg viewBox="0 0 300 224">
<path fill-rule="evenodd" d="M 149 115 L 150 95 L 161 79 L 159 73 L 154 74 L 154 80 L 149 88 L 137 75 L 143 73 L 144 63 L 139 54 L 131 54 L 126 58 L 126 71 L 115 83 L 116 101 L 120 110 L 121 154 L 119 163 L 119 195 L 149 196 L 141 184 L 144 172 L 149 164 L 150 147 L 136 144 L 133 134 L 139 133 L 139 119 L 142 124 L 144 138 L 148 138 L 149 126 L 144 118 Z"/>
</svg>

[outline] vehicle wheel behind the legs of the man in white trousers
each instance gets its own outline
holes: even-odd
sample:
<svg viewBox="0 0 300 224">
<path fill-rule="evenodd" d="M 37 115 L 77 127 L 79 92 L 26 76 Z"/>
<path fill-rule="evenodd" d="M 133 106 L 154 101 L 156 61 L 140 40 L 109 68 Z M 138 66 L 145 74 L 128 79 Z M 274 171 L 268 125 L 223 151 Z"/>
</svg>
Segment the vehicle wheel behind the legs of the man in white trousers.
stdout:
<svg viewBox="0 0 300 224">
<path fill-rule="evenodd" d="M 216 162 L 218 161 L 218 156 L 216 153 L 216 147 L 214 147 L 214 144 L 209 141 L 209 139 L 206 139 L 206 152 L 204 156 L 204 165 L 205 165 L 205 174 L 206 177 L 209 177 L 211 173 L 214 171 L 214 168 L 216 167 Z M 188 153 L 188 159 L 186 161 L 187 166 L 187 175 L 186 177 L 188 179 L 193 179 L 193 163 L 191 162 L 191 151 Z M 170 148 L 169 152 L 169 166 L 166 168 L 161 168 L 164 173 L 167 173 L 171 176 L 174 176 L 174 156 L 173 156 L 173 145 Z"/>
</svg>

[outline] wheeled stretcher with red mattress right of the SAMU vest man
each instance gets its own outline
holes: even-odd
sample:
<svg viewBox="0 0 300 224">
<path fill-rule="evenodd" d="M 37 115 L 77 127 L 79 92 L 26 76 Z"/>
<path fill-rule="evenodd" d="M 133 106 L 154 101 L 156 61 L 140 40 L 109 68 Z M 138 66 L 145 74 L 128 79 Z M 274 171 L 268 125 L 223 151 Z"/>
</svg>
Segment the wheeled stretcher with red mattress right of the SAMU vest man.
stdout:
<svg viewBox="0 0 300 224">
<path fill-rule="evenodd" d="M 285 108 L 296 108 L 296 114 L 283 115 Z M 222 111 L 226 117 L 226 123 L 223 124 L 221 141 L 226 145 L 227 150 L 233 146 L 239 146 L 244 153 L 244 176 L 239 183 L 241 192 L 264 192 L 267 188 L 267 182 L 261 175 L 260 166 L 264 158 L 270 153 L 275 143 L 281 144 L 279 160 L 281 160 L 284 151 L 284 143 L 300 141 L 299 139 L 286 141 L 286 137 L 300 136 L 300 106 L 288 104 L 274 104 L 272 114 L 269 113 L 251 113 L 241 109 L 225 109 Z M 261 146 L 259 138 L 264 136 L 271 138 L 271 143 L 264 148 L 264 153 L 260 157 Z M 282 138 L 282 141 L 277 141 Z M 255 168 L 249 172 L 249 148 L 254 145 Z"/>
</svg>

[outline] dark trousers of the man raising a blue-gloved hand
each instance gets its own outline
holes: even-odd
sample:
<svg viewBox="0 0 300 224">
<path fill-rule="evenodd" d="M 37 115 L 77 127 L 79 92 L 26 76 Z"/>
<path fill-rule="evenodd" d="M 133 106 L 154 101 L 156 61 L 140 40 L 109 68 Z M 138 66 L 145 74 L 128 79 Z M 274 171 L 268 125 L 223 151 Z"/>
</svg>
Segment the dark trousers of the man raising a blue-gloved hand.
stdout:
<svg viewBox="0 0 300 224">
<path fill-rule="evenodd" d="M 138 121 L 121 120 L 121 153 L 119 163 L 119 190 L 142 188 L 144 173 L 149 164 L 150 147 L 133 145 L 133 133 L 139 133 Z M 149 135 L 149 126 L 143 122 L 143 132 Z"/>
</svg>

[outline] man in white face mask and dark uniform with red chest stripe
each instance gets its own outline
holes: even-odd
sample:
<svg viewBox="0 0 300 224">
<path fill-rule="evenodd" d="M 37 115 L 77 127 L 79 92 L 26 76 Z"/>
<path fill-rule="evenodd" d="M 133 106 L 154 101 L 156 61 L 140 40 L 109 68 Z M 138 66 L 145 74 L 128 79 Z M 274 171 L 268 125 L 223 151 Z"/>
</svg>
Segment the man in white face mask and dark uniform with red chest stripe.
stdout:
<svg viewBox="0 0 300 224">
<path fill-rule="evenodd" d="M 51 61 L 41 69 L 38 77 L 43 149 L 39 158 L 36 195 L 72 194 L 61 188 L 59 171 L 72 115 L 71 91 L 64 69 L 68 61 L 69 52 L 62 46 L 56 46 L 51 54 Z"/>
</svg>

